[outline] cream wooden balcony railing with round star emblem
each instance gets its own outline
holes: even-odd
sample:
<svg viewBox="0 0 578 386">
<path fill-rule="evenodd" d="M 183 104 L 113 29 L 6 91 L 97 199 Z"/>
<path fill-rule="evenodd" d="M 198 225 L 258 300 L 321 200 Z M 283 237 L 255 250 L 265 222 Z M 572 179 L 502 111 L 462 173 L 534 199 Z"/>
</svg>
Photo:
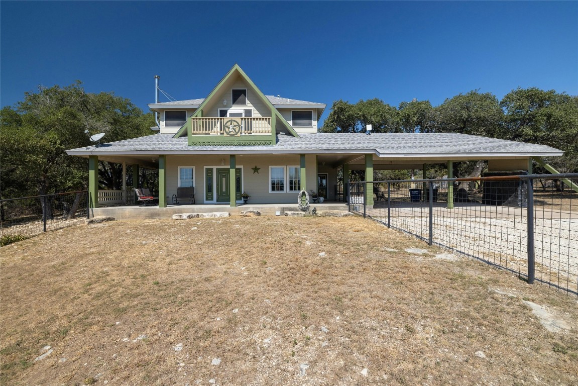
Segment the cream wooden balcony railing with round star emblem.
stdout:
<svg viewBox="0 0 578 386">
<path fill-rule="evenodd" d="M 202 117 L 191 118 L 191 135 L 240 135 L 271 134 L 271 117 Z"/>
</svg>

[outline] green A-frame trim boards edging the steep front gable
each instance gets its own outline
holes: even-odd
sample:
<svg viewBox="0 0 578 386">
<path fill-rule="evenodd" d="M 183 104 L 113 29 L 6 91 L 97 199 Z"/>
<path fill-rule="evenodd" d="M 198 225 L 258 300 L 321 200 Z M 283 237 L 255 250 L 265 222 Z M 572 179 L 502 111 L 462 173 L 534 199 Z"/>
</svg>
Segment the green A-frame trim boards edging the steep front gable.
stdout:
<svg viewBox="0 0 578 386">
<path fill-rule="evenodd" d="M 195 110 L 195 112 L 192 113 L 190 117 L 188 117 L 187 123 L 184 124 L 183 127 L 181 127 L 175 135 L 173 135 L 173 138 L 183 137 L 183 135 L 187 134 L 189 145 L 191 144 L 191 142 L 193 142 L 191 137 L 196 136 L 191 135 L 190 130 L 190 127 L 192 127 L 192 124 L 190 123 L 191 119 L 203 116 L 203 108 L 205 108 L 207 105 L 209 105 L 210 102 L 212 102 L 215 95 L 218 92 L 220 92 L 221 87 L 223 87 L 224 84 L 227 83 L 229 78 L 231 78 L 231 76 L 233 76 L 235 73 L 238 73 L 239 76 L 241 76 L 243 80 L 247 83 L 247 85 L 251 87 L 251 89 L 253 89 L 254 93 L 257 94 L 257 97 L 261 99 L 261 102 L 263 102 L 266 106 L 269 106 L 269 108 L 271 109 L 271 121 L 272 121 L 271 131 L 273 138 L 275 138 L 276 135 L 276 130 L 273 125 L 273 117 L 279 118 L 280 122 L 287 127 L 287 130 L 293 137 L 299 137 L 299 134 L 297 134 L 297 132 L 291 127 L 291 125 L 287 122 L 287 120 L 284 119 L 284 117 L 279 113 L 279 111 L 277 111 L 277 109 L 275 108 L 275 106 L 273 106 L 271 101 L 269 101 L 268 98 L 265 97 L 265 94 L 262 93 L 259 87 L 257 87 L 257 85 L 253 83 L 253 80 L 251 80 L 251 78 L 247 76 L 247 74 L 239 67 L 239 65 L 235 63 L 235 65 L 233 65 L 233 67 L 227 72 L 227 74 L 223 77 L 223 79 L 221 79 L 220 82 L 217 83 L 217 86 L 215 86 L 214 89 L 209 93 L 209 95 L 207 95 L 207 97 L 199 105 L 197 110 Z M 275 144 L 274 140 L 272 144 Z"/>
</svg>

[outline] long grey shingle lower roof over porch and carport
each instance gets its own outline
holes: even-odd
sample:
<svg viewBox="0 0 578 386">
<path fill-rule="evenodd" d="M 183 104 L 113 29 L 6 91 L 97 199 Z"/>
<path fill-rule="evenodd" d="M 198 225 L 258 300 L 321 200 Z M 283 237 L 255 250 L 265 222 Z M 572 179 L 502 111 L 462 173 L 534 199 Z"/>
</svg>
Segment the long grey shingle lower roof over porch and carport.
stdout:
<svg viewBox="0 0 578 386">
<path fill-rule="evenodd" d="M 376 152 L 387 156 L 435 156 L 435 155 L 523 155 L 561 156 L 561 150 L 546 145 L 506 141 L 457 133 L 393 134 L 301 134 L 295 138 L 278 135 L 276 145 L 263 146 L 188 146 L 187 137 L 172 138 L 172 134 L 154 134 L 146 137 L 126 139 L 96 146 L 68 150 L 70 155 L 121 155 L 140 154 L 190 154 L 195 153 L 362 153 Z"/>
</svg>

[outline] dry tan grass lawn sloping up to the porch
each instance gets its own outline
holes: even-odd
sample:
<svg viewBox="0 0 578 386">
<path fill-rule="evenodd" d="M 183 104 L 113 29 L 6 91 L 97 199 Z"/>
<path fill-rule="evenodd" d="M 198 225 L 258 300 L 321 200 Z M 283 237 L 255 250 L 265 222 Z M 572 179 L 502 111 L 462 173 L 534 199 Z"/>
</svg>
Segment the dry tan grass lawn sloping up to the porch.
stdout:
<svg viewBox="0 0 578 386">
<path fill-rule="evenodd" d="M 575 297 L 440 252 L 357 217 L 51 231 L 0 250 L 1 383 L 578 384 Z"/>
</svg>

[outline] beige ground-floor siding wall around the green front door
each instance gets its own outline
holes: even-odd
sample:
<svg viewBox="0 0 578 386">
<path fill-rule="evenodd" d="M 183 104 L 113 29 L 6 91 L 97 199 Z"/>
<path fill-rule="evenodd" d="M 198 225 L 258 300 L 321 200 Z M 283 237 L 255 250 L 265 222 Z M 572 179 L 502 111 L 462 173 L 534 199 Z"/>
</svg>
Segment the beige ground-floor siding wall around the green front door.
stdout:
<svg viewBox="0 0 578 386">
<path fill-rule="evenodd" d="M 221 159 L 225 165 L 221 166 Z M 229 155 L 223 156 L 167 156 L 166 194 L 167 201 L 172 203 L 171 197 L 176 194 L 178 183 L 179 166 L 194 167 L 195 199 L 197 204 L 205 203 L 205 166 L 224 167 L 229 166 Z M 299 166 L 299 155 L 287 156 L 237 156 L 236 166 L 242 169 L 242 189 L 250 194 L 251 204 L 274 204 L 293 203 L 297 204 L 297 192 L 269 193 L 269 166 Z M 260 168 L 258 173 L 253 173 L 253 168 Z M 317 156 L 306 156 L 307 167 L 307 191 L 317 190 Z M 287 173 L 286 173 L 287 175 Z M 286 177 L 286 188 L 288 181 Z M 332 188 L 331 188 L 332 189 Z M 331 190 L 329 189 L 329 190 Z"/>
</svg>

